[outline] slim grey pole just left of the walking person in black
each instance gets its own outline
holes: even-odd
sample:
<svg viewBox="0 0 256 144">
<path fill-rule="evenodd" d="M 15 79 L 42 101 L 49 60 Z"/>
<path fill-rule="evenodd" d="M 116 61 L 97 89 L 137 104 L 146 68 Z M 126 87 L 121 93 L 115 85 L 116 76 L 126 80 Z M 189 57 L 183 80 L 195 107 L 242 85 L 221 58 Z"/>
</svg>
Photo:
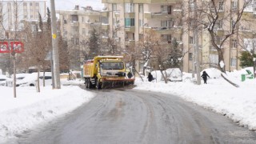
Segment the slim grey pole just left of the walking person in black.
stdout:
<svg viewBox="0 0 256 144">
<path fill-rule="evenodd" d="M 198 46 L 198 6 L 194 0 L 194 52 L 195 52 L 195 70 L 197 73 L 197 84 L 201 85 L 200 62 L 199 62 L 199 46 Z"/>
</svg>

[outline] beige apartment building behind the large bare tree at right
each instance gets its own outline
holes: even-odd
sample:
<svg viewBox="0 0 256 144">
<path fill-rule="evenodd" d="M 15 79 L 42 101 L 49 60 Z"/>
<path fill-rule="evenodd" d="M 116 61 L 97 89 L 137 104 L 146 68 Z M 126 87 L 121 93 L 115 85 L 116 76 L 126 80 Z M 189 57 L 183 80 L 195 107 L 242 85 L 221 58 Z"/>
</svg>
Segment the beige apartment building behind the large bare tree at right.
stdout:
<svg viewBox="0 0 256 144">
<path fill-rule="evenodd" d="M 206 1 L 209 2 L 209 1 Z M 216 7 L 218 9 L 218 21 L 216 22 L 216 26 L 214 27 L 215 42 L 219 46 L 225 38 L 226 34 L 229 34 L 232 26 L 234 25 L 234 20 L 237 17 L 236 13 L 238 10 L 242 10 L 242 6 L 244 4 L 244 0 L 230 0 L 223 1 L 218 0 L 215 2 Z M 226 42 L 222 45 L 222 54 L 224 56 L 225 62 L 225 70 L 240 70 L 241 66 L 239 66 L 239 56 L 240 52 L 245 49 L 253 49 L 255 45 L 255 1 L 253 0 L 250 6 L 247 6 L 242 14 L 242 19 L 235 27 L 235 34 L 226 39 Z M 190 1 L 183 2 L 183 10 L 186 10 L 186 16 L 190 16 L 193 19 L 194 15 L 194 4 Z M 198 6 L 202 6 L 202 3 L 198 2 Z M 214 7 L 208 3 L 209 9 L 213 10 Z M 206 7 L 206 6 L 205 6 Z M 201 18 L 202 23 L 209 23 L 206 17 Z M 193 21 L 191 21 L 193 23 Z M 190 29 L 191 25 L 183 25 L 184 32 L 182 35 L 183 48 L 187 54 L 184 57 L 183 61 L 183 70 L 186 72 L 194 71 L 194 63 L 195 63 L 195 49 L 194 49 L 194 33 L 193 30 Z M 199 26 L 200 27 L 200 26 Z M 209 67 L 217 67 L 218 66 L 218 51 L 214 49 L 212 45 L 211 37 L 207 28 L 201 26 L 198 30 L 198 50 L 200 52 L 200 69 L 206 69 Z"/>
</svg>

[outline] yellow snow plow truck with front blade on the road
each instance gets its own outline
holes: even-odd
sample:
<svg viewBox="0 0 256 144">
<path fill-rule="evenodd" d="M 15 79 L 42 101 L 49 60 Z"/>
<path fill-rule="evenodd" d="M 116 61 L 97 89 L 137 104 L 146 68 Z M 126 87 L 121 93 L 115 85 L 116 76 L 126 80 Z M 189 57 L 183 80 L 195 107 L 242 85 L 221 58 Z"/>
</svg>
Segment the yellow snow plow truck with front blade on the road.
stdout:
<svg viewBox="0 0 256 144">
<path fill-rule="evenodd" d="M 96 56 L 83 65 L 86 88 L 111 88 L 134 84 L 128 78 L 122 56 Z"/>
</svg>

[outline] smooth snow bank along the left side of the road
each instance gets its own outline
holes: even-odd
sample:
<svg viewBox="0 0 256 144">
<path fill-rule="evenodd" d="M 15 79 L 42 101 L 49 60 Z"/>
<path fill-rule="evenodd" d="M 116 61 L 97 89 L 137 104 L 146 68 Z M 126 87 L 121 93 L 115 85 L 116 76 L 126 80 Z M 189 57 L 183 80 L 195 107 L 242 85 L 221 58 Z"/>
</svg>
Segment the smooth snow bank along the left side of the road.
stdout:
<svg viewBox="0 0 256 144">
<path fill-rule="evenodd" d="M 34 86 L 17 87 L 17 98 L 13 98 L 12 87 L 0 86 L 0 91 L 0 142 L 66 114 L 94 97 L 78 86 L 62 86 L 60 90 L 46 86 L 41 87 L 41 93 L 36 93 Z"/>
</svg>

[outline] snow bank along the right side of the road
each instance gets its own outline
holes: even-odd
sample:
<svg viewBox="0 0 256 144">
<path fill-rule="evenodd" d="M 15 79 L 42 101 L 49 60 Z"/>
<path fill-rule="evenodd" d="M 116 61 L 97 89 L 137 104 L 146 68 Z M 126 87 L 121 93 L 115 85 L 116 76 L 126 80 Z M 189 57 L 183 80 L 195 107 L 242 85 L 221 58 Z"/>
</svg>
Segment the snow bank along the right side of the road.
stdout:
<svg viewBox="0 0 256 144">
<path fill-rule="evenodd" d="M 248 126 L 249 130 L 256 130 L 256 79 L 246 78 L 245 82 L 241 82 L 241 74 L 246 74 L 245 70 L 227 73 L 227 77 L 239 85 L 237 88 L 226 82 L 220 71 L 207 69 L 206 72 L 210 75 L 207 85 L 202 81 L 202 85 L 196 85 L 194 78 L 191 78 L 192 74 L 186 73 L 183 74 L 183 82 L 166 84 L 160 81 L 161 74 L 157 72 L 157 81 L 147 82 L 145 78 L 142 82 L 137 78 L 137 87 L 134 89 L 177 95 L 186 101 L 226 115 L 239 125 Z"/>
</svg>

